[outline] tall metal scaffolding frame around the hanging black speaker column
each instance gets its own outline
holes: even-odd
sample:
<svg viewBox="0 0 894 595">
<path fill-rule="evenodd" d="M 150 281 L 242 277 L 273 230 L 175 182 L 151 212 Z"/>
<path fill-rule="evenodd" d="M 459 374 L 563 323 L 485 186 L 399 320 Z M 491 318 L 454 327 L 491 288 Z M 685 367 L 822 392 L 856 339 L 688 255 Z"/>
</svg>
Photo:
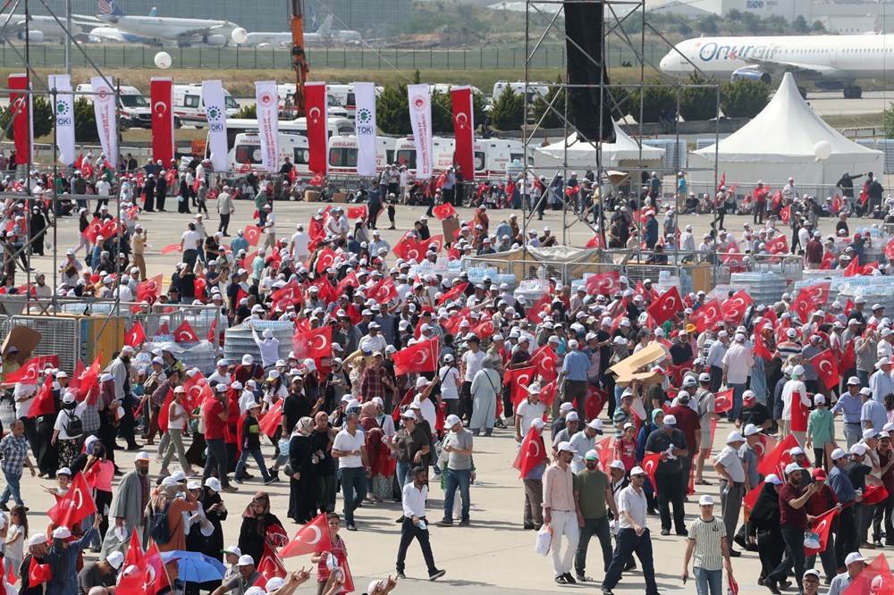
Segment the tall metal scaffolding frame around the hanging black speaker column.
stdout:
<svg viewBox="0 0 894 595">
<path fill-rule="evenodd" d="M 645 0 L 597 0 L 598 4 L 603 6 L 603 61 L 606 60 L 606 56 L 608 55 L 608 49 L 606 45 L 606 40 L 609 38 L 615 39 L 623 46 L 627 47 L 637 59 L 637 62 L 634 66 L 639 67 L 639 80 L 634 85 L 628 84 L 614 84 L 610 81 L 606 81 L 604 77 L 601 76 L 598 85 L 571 85 L 568 83 L 568 75 L 567 71 L 565 76 L 562 78 L 560 83 L 555 82 L 546 82 L 545 84 L 549 86 L 549 88 L 559 88 L 560 92 L 555 93 L 552 97 L 552 101 L 546 106 L 544 110 L 544 115 L 541 118 L 534 122 L 533 127 L 527 125 L 527 114 L 532 106 L 532 84 L 536 81 L 531 80 L 531 63 L 534 59 L 536 53 L 544 46 L 544 41 L 549 36 L 553 29 L 557 30 L 561 35 L 562 40 L 568 44 L 571 43 L 575 47 L 577 47 L 578 51 L 582 54 L 586 55 L 586 59 L 593 63 L 595 66 L 600 67 L 600 71 L 605 73 L 607 72 L 607 68 L 601 68 L 603 63 L 599 60 L 596 60 L 595 56 L 585 52 L 584 49 L 578 46 L 573 40 L 569 39 L 565 33 L 564 27 L 560 22 L 561 15 L 564 14 L 564 6 L 565 4 L 594 4 L 593 0 L 526 0 L 525 3 L 525 126 L 523 129 L 522 144 L 524 147 L 524 155 L 525 155 L 525 163 L 524 163 L 524 172 L 522 175 L 524 176 L 526 188 L 529 188 L 529 184 L 531 184 L 536 179 L 536 172 L 532 172 L 532 164 L 528 163 L 528 155 L 530 155 L 530 150 L 532 147 L 540 146 L 539 143 L 536 143 L 536 138 L 538 133 L 544 131 L 544 118 L 547 114 L 552 113 L 553 115 L 558 116 L 561 119 L 563 124 L 562 127 L 562 138 L 564 142 L 564 151 L 562 155 L 562 163 L 561 166 L 556 168 L 555 173 L 552 175 L 552 180 L 556 180 L 558 176 L 561 175 L 562 180 L 569 179 L 569 171 L 575 169 L 569 166 L 568 162 L 568 148 L 569 148 L 569 138 L 572 133 L 576 135 L 578 142 L 586 142 L 592 147 L 595 148 L 596 153 L 596 163 L 595 163 L 595 190 L 593 197 L 593 206 L 590 209 L 585 209 L 583 207 L 583 203 L 581 204 L 581 208 L 572 209 L 571 216 L 569 217 L 569 200 L 564 194 L 564 186 L 562 188 L 562 243 L 568 244 L 568 230 L 569 228 L 577 222 L 584 223 L 587 227 L 589 227 L 594 235 L 599 236 L 602 239 L 603 246 L 607 246 L 605 241 L 605 225 L 603 225 L 603 221 L 605 219 L 605 209 L 603 206 L 603 199 L 606 197 L 606 190 L 611 186 L 611 184 L 603 184 L 603 174 L 606 173 L 606 169 L 603 167 L 603 147 L 602 143 L 599 142 L 599 139 L 591 139 L 586 138 L 582 135 L 574 125 L 569 122 L 569 88 L 599 88 L 600 90 L 600 114 L 595 114 L 595 117 L 599 117 L 599 126 L 600 126 L 600 138 L 603 138 L 603 121 L 600 117 L 601 113 L 605 109 L 611 109 L 612 112 L 612 120 L 617 120 L 617 115 L 620 115 L 620 119 L 623 122 L 624 118 L 627 116 L 626 113 L 617 112 L 620 111 L 619 105 L 611 96 L 612 88 L 625 88 L 625 89 L 636 89 L 638 90 L 639 97 L 639 106 L 638 106 L 638 117 L 637 117 L 637 125 L 639 127 L 639 131 L 637 134 L 637 145 L 639 146 L 639 155 L 637 158 L 636 167 L 630 168 L 630 184 L 631 189 L 639 188 L 638 180 L 636 179 L 636 175 L 638 172 L 644 171 L 643 165 L 643 142 L 642 138 L 645 137 L 644 129 L 643 129 L 643 120 L 645 113 L 645 96 L 643 91 L 645 88 L 654 88 L 655 85 L 649 85 L 646 83 L 646 71 L 654 71 L 655 74 L 658 75 L 659 79 L 663 81 L 663 84 L 658 87 L 670 87 L 674 90 L 674 94 L 676 97 L 676 116 L 678 120 L 674 122 L 674 138 L 677 141 L 677 146 L 679 147 L 679 126 L 677 126 L 677 122 L 679 121 L 679 107 L 680 107 L 680 94 L 684 88 L 712 88 L 715 91 L 715 105 L 714 105 L 714 113 L 715 113 L 715 127 L 714 127 L 714 151 L 715 151 L 715 159 L 714 166 L 710 171 L 713 171 L 714 174 L 714 189 L 716 191 L 718 175 L 717 175 L 717 151 L 718 142 L 720 140 L 720 115 L 721 115 L 721 86 L 718 81 L 713 81 L 707 84 L 687 84 L 684 83 L 682 79 L 672 78 L 670 75 L 665 74 L 661 71 L 660 68 L 657 67 L 654 63 L 650 63 L 645 58 L 645 35 L 646 32 L 653 33 L 658 38 L 661 38 L 662 42 L 667 45 L 669 52 L 674 52 L 678 54 L 682 59 L 684 59 L 687 63 L 691 64 L 696 74 L 702 78 L 703 80 L 711 80 L 704 71 L 701 71 L 695 63 L 692 63 L 689 58 L 681 54 L 679 50 L 676 48 L 675 44 L 671 43 L 671 41 L 664 37 L 664 35 L 654 29 L 651 23 L 646 21 L 647 11 L 645 9 Z M 549 13 L 547 13 L 544 7 L 549 7 Z M 553 8 L 554 7 L 554 8 Z M 627 13 L 620 14 L 617 10 L 618 8 L 628 8 Z M 638 39 L 631 37 L 628 33 L 623 29 L 623 25 L 625 22 L 628 22 L 632 19 L 639 18 L 639 33 Z M 544 18 L 546 23 L 544 27 L 538 27 L 536 21 L 537 18 Z M 538 27 L 535 29 L 535 27 Z M 568 61 L 566 60 L 566 64 Z M 537 85 L 543 86 L 543 82 L 537 82 Z M 612 105 L 605 105 L 606 99 L 606 91 L 608 92 L 608 96 L 611 99 Z M 564 102 L 563 105 L 554 105 L 556 103 L 556 98 L 563 97 Z M 544 132 L 545 138 L 545 132 Z M 687 168 L 688 169 L 688 168 Z M 664 174 L 668 172 L 667 168 L 663 167 L 659 170 L 656 170 L 662 173 L 662 177 Z M 675 169 L 673 171 L 676 174 L 678 170 Z M 679 171 L 682 171 L 680 168 Z M 525 230 L 525 237 L 527 239 L 527 228 L 529 226 L 529 222 L 533 215 L 536 213 L 537 209 L 544 200 L 547 200 L 547 197 L 551 193 L 552 180 L 548 181 L 548 186 L 544 189 L 543 195 L 539 198 L 538 202 L 535 205 L 523 204 L 523 227 Z M 676 180 L 676 176 L 675 176 Z M 597 194 L 598 193 L 598 196 Z M 674 196 L 676 197 L 676 207 L 677 213 L 679 214 L 679 195 L 676 191 L 676 186 L 674 188 Z M 712 197 L 713 199 L 713 197 Z M 587 220 L 587 214 L 593 214 L 594 222 L 589 222 Z M 717 214 L 715 210 L 714 219 L 712 222 L 712 228 L 716 229 L 717 222 Z M 679 244 L 674 244 L 675 250 L 679 249 Z"/>
</svg>

